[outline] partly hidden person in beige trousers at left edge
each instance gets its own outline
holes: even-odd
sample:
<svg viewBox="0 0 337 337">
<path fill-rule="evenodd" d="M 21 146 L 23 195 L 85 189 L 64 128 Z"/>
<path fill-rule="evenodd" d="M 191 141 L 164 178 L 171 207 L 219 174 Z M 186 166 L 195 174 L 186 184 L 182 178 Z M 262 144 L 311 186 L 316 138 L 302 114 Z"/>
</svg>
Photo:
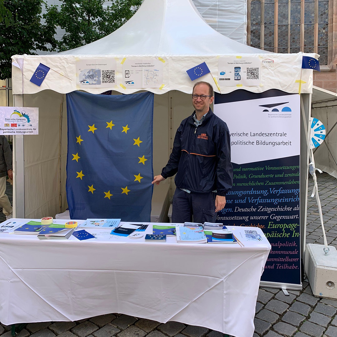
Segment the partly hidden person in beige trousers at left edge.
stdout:
<svg viewBox="0 0 337 337">
<path fill-rule="evenodd" d="M 5 136 L 0 135 L 0 207 L 6 216 L 6 220 L 13 217 L 13 209 L 6 194 L 6 175 L 13 179 L 12 150 Z"/>
</svg>

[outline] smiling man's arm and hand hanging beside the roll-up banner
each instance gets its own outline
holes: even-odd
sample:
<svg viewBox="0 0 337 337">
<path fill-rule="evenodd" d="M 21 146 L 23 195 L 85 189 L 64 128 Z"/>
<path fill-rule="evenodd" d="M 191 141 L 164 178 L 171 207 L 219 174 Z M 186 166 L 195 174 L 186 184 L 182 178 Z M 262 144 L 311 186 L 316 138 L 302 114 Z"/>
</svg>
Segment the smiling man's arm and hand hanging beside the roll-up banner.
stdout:
<svg viewBox="0 0 337 337">
<path fill-rule="evenodd" d="M 226 193 L 233 186 L 233 165 L 231 163 L 231 136 L 229 131 L 220 132 L 217 146 L 218 163 L 216 168 L 215 212 L 221 211 L 226 204 Z"/>
</svg>

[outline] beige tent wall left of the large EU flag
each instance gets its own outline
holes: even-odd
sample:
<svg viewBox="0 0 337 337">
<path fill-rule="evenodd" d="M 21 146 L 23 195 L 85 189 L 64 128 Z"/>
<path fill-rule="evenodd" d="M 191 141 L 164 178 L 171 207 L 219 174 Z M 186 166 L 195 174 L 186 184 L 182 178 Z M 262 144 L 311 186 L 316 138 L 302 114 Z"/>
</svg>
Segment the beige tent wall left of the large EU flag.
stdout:
<svg viewBox="0 0 337 337">
<path fill-rule="evenodd" d="M 24 106 L 39 108 L 39 134 L 24 136 L 26 218 L 55 216 L 66 207 L 62 181 L 67 156 L 67 121 L 62 119 L 66 116 L 63 99 L 65 95 L 52 90 L 23 98 Z"/>
</svg>

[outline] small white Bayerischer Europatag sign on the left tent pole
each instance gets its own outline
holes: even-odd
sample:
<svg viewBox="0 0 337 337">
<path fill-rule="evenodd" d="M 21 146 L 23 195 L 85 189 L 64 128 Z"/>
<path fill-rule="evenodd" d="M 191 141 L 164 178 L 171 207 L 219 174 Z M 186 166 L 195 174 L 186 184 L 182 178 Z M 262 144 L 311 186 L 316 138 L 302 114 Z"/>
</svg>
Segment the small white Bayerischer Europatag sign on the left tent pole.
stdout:
<svg viewBox="0 0 337 337">
<path fill-rule="evenodd" d="M 0 106 L 0 134 L 38 134 L 39 109 Z"/>
</svg>

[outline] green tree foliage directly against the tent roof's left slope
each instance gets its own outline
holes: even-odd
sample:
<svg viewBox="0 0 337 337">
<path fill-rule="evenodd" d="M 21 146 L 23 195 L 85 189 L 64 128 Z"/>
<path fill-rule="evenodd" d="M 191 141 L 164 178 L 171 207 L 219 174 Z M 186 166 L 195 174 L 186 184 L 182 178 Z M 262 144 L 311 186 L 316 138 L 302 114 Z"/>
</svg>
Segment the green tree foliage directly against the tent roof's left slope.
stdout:
<svg viewBox="0 0 337 337">
<path fill-rule="evenodd" d="M 50 26 L 65 30 L 57 49 L 65 51 L 96 41 L 122 26 L 139 8 L 142 0 L 61 0 L 62 4 L 47 7 L 43 17 Z"/>
</svg>

